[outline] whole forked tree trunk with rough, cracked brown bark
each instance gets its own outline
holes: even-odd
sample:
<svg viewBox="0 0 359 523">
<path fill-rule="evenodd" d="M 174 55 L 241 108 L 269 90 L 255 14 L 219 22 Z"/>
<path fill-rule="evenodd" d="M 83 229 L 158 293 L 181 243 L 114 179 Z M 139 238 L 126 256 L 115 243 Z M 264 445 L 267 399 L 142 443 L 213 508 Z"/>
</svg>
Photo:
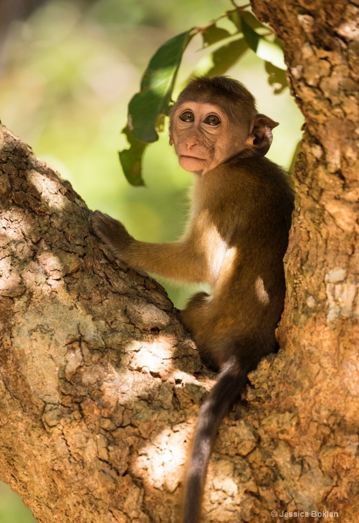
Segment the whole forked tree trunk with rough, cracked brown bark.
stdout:
<svg viewBox="0 0 359 523">
<path fill-rule="evenodd" d="M 306 127 L 281 349 L 219 430 L 203 518 L 353 522 L 359 2 L 252 4 L 285 44 Z M 213 374 L 158 283 L 91 236 L 70 184 L 4 128 L 0 143 L 0 479 L 40 523 L 174 522 Z"/>
</svg>

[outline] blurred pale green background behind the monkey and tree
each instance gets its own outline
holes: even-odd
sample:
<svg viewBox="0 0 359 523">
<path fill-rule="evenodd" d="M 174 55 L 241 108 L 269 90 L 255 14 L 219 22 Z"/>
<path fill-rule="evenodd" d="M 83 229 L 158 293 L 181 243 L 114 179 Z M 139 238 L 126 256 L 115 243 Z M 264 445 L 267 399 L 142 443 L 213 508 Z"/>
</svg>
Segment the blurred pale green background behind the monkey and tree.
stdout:
<svg viewBox="0 0 359 523">
<path fill-rule="evenodd" d="M 175 240 L 191 175 L 178 166 L 164 133 L 145 154 L 146 187 L 129 186 L 118 160 L 127 146 L 120 131 L 156 49 L 231 7 L 229 0 L 0 0 L 0 119 L 70 180 L 90 209 L 120 219 L 138 240 Z M 194 38 L 178 89 L 206 53 Z M 268 157 L 289 167 L 303 123 L 289 90 L 273 93 L 252 51 L 228 74 L 256 96 L 259 112 L 280 122 Z M 161 282 L 179 308 L 193 291 Z M 0 483 L 0 523 L 35 521 Z"/>
</svg>

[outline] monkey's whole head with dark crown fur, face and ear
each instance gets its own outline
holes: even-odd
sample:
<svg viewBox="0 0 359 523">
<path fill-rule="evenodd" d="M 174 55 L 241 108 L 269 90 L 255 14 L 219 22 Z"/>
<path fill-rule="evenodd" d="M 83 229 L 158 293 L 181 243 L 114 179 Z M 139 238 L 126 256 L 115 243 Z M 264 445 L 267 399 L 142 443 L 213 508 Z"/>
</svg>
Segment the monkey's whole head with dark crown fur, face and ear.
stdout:
<svg viewBox="0 0 359 523">
<path fill-rule="evenodd" d="M 256 100 L 233 78 L 201 76 L 170 110 L 169 143 L 181 167 L 206 174 L 233 156 L 264 156 L 278 125 L 256 110 Z"/>
</svg>

